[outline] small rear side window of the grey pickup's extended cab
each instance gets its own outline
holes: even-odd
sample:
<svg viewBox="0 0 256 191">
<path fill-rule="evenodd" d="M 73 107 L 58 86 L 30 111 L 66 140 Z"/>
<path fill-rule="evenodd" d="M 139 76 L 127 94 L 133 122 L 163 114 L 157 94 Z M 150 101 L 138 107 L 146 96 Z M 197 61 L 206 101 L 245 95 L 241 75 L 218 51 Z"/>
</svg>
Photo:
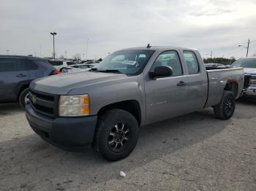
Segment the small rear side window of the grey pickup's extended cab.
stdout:
<svg viewBox="0 0 256 191">
<path fill-rule="evenodd" d="M 197 58 L 195 53 L 192 51 L 184 51 L 183 52 L 185 62 L 187 64 L 187 69 L 189 74 L 197 74 L 199 73 L 199 66 L 197 63 Z"/>
</svg>

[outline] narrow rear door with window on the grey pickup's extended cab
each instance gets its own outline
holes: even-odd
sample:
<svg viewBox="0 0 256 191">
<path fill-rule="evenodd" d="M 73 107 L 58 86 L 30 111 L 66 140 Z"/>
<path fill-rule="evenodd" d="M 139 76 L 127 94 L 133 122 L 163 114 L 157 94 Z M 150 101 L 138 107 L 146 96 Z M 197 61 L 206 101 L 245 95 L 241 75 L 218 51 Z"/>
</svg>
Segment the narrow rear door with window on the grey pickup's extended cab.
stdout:
<svg viewBox="0 0 256 191">
<path fill-rule="evenodd" d="M 203 61 L 199 53 L 192 50 L 183 52 L 184 63 L 187 67 L 189 95 L 187 96 L 187 109 L 195 112 L 203 109 L 208 94 L 208 77 L 206 70 L 202 68 Z"/>
</svg>

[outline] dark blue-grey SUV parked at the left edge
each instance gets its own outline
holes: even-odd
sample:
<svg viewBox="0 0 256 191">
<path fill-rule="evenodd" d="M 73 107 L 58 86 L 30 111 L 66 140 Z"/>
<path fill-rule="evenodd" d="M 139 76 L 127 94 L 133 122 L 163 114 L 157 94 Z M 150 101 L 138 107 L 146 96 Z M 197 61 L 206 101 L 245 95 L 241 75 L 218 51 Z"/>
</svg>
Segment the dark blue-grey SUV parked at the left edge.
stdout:
<svg viewBox="0 0 256 191">
<path fill-rule="evenodd" d="M 47 60 L 30 56 L 0 55 L 0 103 L 29 102 L 32 80 L 58 74 Z"/>
</svg>

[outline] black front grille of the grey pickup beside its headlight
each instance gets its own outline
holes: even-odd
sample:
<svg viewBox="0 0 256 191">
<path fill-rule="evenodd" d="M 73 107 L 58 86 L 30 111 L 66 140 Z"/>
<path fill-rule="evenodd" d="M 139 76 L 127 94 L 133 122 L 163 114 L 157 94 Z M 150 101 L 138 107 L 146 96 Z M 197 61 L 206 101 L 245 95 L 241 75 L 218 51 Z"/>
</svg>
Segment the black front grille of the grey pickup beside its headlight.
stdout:
<svg viewBox="0 0 256 191">
<path fill-rule="evenodd" d="M 30 89 L 29 101 L 35 112 L 47 115 L 48 117 L 58 117 L 59 95 L 42 93 Z"/>
</svg>

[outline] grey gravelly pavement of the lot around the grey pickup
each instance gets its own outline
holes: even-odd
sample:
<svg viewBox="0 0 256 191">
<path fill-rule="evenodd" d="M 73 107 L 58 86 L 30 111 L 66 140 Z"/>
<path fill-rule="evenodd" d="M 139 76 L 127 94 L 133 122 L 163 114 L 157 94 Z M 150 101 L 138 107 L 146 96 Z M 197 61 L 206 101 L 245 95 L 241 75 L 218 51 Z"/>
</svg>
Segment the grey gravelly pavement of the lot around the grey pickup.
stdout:
<svg viewBox="0 0 256 191">
<path fill-rule="evenodd" d="M 157 122 L 110 163 L 90 147 L 51 146 L 18 104 L 0 104 L 0 190 L 256 190 L 255 124 L 255 101 L 239 101 L 227 121 L 206 109 Z"/>
</svg>

